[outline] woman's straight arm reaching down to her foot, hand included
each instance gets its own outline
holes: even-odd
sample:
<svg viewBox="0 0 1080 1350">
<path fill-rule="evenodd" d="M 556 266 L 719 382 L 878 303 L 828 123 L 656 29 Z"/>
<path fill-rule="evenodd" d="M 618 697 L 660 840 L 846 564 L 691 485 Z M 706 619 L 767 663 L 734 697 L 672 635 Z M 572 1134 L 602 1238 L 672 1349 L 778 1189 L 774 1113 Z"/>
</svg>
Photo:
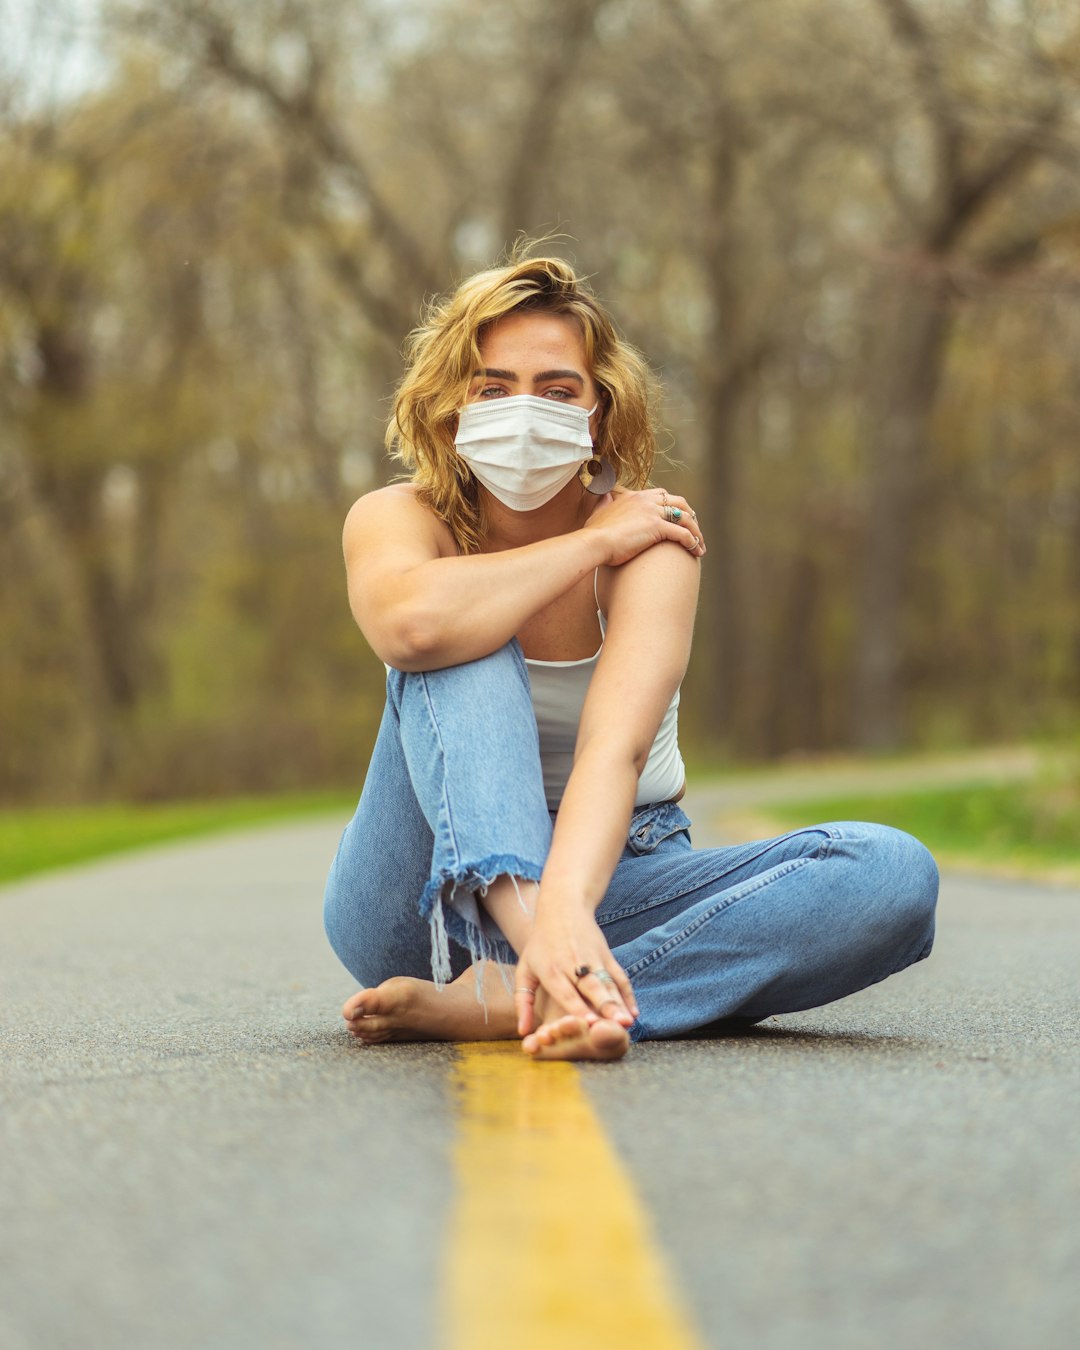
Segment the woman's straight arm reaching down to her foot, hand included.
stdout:
<svg viewBox="0 0 1080 1350">
<path fill-rule="evenodd" d="M 595 921 L 626 842 L 637 779 L 690 657 L 699 564 L 678 544 L 655 544 L 610 572 L 603 651 L 582 710 L 536 919 L 516 986 L 539 983 L 567 1013 L 629 1025 L 633 990 Z M 608 969 L 610 984 L 574 972 Z M 585 998 L 582 996 L 585 995 Z M 532 999 L 517 995 L 518 1031 L 533 1027 Z M 591 1002 L 589 1002 L 591 1000 Z"/>
</svg>

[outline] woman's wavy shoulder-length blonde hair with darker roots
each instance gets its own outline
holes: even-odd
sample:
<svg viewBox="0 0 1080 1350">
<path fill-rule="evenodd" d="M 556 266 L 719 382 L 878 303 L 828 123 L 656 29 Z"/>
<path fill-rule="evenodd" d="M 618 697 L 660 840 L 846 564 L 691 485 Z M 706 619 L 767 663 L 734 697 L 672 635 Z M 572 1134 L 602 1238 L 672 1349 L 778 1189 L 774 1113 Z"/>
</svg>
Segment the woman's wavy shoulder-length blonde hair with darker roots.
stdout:
<svg viewBox="0 0 1080 1350">
<path fill-rule="evenodd" d="M 405 343 L 405 374 L 386 429 L 390 454 L 463 554 L 481 549 L 486 521 L 477 481 L 454 446 L 458 413 L 482 364 L 483 335 L 506 315 L 566 315 L 576 323 L 601 390 L 594 454 L 612 462 L 620 483 L 648 486 L 657 454 L 659 385 L 644 358 L 620 338 L 568 263 L 520 254 L 506 266 L 466 278 L 425 308 Z"/>
</svg>

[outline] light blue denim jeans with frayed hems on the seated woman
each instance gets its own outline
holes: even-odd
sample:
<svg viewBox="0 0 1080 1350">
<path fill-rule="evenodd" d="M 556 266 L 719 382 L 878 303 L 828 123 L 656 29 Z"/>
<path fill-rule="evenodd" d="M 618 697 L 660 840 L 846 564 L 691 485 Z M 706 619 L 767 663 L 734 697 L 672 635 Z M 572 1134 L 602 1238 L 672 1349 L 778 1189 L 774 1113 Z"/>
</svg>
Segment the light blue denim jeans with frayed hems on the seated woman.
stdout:
<svg viewBox="0 0 1080 1350">
<path fill-rule="evenodd" d="M 539 880 L 552 834 L 521 648 L 392 670 L 386 694 L 327 882 L 331 945 L 362 986 L 512 963 L 481 899 L 505 873 Z M 936 902 L 934 860 L 900 830 L 842 821 L 695 849 L 683 810 L 659 802 L 634 811 L 597 918 L 643 1040 L 875 984 L 929 954 Z"/>
</svg>

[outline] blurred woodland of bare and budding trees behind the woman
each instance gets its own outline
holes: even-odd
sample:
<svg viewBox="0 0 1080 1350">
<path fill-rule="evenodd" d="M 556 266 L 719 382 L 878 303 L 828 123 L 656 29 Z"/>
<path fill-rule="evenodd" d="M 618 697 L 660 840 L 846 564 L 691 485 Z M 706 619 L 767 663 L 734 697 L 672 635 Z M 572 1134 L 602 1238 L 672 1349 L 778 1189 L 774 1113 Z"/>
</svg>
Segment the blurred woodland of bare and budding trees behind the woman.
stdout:
<svg viewBox="0 0 1080 1350">
<path fill-rule="evenodd" d="M 1075 741 L 1075 0 L 0 0 L 0 801 L 358 784 L 340 526 L 520 232 L 663 377 L 702 763 Z"/>
</svg>

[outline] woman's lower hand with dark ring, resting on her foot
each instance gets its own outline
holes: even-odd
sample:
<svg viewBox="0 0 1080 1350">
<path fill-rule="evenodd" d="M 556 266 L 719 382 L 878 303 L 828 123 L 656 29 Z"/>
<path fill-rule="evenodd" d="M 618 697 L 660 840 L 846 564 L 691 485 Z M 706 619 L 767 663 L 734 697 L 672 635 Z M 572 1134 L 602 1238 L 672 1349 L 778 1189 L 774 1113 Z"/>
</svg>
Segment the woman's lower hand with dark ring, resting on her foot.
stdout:
<svg viewBox="0 0 1080 1350">
<path fill-rule="evenodd" d="M 514 979 L 518 1035 L 536 1030 L 533 1006 L 539 990 L 564 1013 L 587 1022 L 609 1018 L 629 1026 L 637 1017 L 626 972 L 612 956 L 595 918 L 580 909 L 547 914 L 537 909 Z"/>
</svg>

